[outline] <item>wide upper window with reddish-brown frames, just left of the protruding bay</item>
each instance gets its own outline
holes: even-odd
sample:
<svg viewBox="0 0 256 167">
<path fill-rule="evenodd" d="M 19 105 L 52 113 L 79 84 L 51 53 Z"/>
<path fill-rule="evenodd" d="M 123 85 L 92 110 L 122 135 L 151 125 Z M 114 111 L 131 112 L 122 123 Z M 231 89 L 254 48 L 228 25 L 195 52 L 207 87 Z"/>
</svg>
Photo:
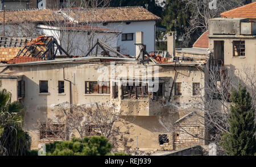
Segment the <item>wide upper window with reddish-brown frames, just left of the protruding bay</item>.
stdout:
<svg viewBox="0 0 256 167">
<path fill-rule="evenodd" d="M 97 81 L 85 81 L 85 94 L 110 94 L 109 82 L 100 86 Z"/>
</svg>

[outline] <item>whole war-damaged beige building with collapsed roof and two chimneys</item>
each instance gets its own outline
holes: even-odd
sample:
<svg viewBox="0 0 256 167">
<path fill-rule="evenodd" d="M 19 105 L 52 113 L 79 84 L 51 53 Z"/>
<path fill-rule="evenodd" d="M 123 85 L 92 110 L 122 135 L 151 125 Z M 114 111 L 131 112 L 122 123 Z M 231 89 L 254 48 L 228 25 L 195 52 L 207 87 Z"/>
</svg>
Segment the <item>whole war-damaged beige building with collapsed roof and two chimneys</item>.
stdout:
<svg viewBox="0 0 256 167">
<path fill-rule="evenodd" d="M 115 56 L 97 51 L 96 55 L 90 56 L 93 49 L 101 46 L 106 53 L 113 51 Z M 1 64 L 2 87 L 11 92 L 12 101 L 20 101 L 25 107 L 24 130 L 31 136 L 31 148 L 58 140 L 52 135 L 42 135 L 43 130 L 36 128 L 36 124 L 38 119 L 46 122 L 54 115 L 52 106 L 65 102 L 73 105 L 114 103 L 123 115 L 133 116 L 132 148 L 179 150 L 205 144 L 200 139 L 205 135 L 204 120 L 196 122 L 193 118 L 196 115 L 191 114 L 189 108 L 194 100 L 205 94 L 209 52 L 202 48 L 177 49 L 175 52 L 175 32 L 168 33 L 168 52 L 147 52 L 145 47 L 143 32 L 137 32 L 135 56 L 122 55 L 98 40 L 88 54 L 80 57 L 43 59 L 42 56 L 19 55 Z M 108 83 L 100 86 L 98 78 L 102 73 L 98 73 L 98 69 L 104 66 L 104 72 L 110 73 L 113 63 L 115 77 L 108 75 Z M 123 72 L 118 72 L 118 68 Z M 148 76 L 148 68 L 157 69 L 153 72 L 154 77 Z M 134 73 L 129 76 L 132 83 L 123 85 L 122 82 L 128 82 L 124 80 L 126 74 L 131 73 Z M 151 92 L 149 81 L 156 78 L 159 82 L 154 85 L 157 84 L 158 89 Z M 144 81 L 145 85 L 142 84 Z M 56 128 L 60 130 L 60 127 Z"/>
</svg>

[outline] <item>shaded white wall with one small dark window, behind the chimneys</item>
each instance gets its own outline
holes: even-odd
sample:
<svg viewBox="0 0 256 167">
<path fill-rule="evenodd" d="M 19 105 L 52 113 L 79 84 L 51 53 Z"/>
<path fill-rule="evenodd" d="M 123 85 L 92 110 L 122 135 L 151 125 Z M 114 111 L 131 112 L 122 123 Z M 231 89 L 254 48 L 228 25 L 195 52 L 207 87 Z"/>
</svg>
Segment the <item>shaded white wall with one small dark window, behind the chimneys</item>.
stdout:
<svg viewBox="0 0 256 167">
<path fill-rule="evenodd" d="M 101 25 L 102 28 L 108 28 L 110 30 L 119 30 L 123 34 L 133 33 L 133 41 L 122 41 L 122 35 L 120 34 L 117 39 L 117 46 L 120 47 L 120 51 L 123 55 L 135 56 L 135 34 L 138 31 L 143 32 L 144 44 L 147 45 L 147 51 L 155 51 L 155 22 L 131 22 L 126 23 L 108 23 L 107 26 Z"/>
</svg>

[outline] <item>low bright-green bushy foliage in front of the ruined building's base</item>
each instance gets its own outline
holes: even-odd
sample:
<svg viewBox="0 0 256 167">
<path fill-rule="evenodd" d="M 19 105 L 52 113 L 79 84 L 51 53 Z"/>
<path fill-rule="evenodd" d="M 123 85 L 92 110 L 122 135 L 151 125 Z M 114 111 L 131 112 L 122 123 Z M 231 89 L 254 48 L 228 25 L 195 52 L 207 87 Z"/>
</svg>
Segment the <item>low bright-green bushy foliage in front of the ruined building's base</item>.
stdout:
<svg viewBox="0 0 256 167">
<path fill-rule="evenodd" d="M 104 136 L 73 138 L 71 141 L 55 141 L 46 145 L 48 156 L 105 156 L 112 145 Z"/>
</svg>

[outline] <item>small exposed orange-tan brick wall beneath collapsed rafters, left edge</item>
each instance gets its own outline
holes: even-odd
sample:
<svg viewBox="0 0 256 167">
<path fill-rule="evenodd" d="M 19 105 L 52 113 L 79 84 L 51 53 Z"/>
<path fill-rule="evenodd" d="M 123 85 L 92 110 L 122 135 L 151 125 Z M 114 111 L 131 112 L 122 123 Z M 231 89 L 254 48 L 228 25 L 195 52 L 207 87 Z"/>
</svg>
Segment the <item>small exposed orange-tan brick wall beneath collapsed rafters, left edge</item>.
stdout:
<svg viewBox="0 0 256 167">
<path fill-rule="evenodd" d="M 20 49 L 22 50 L 23 47 L 9 47 L 9 48 L 0 47 L 0 61 L 10 60 L 11 58 L 15 57 L 18 54 Z"/>
</svg>

